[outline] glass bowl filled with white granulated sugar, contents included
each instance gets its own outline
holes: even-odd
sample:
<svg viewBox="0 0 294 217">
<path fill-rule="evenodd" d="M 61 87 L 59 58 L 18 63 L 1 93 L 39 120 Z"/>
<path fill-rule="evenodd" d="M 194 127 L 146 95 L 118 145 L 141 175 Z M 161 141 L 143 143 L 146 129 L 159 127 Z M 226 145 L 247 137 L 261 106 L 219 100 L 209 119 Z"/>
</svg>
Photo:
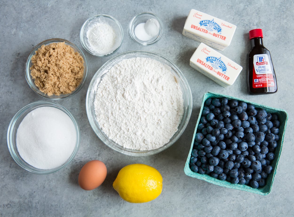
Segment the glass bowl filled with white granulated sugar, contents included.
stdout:
<svg viewBox="0 0 294 217">
<path fill-rule="evenodd" d="M 7 145 L 14 161 L 27 171 L 49 174 L 68 165 L 80 144 L 78 123 L 63 106 L 36 101 L 11 119 Z"/>
</svg>

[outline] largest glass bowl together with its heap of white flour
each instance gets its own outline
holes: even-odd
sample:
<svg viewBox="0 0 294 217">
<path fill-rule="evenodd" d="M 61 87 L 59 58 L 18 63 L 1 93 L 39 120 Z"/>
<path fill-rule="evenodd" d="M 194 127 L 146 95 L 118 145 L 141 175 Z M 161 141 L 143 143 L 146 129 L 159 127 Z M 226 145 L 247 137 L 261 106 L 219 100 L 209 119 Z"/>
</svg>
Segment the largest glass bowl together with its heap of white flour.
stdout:
<svg viewBox="0 0 294 217">
<path fill-rule="evenodd" d="M 189 84 L 160 54 L 128 51 L 93 76 L 86 111 L 96 135 L 131 156 L 159 153 L 175 143 L 192 112 Z"/>
</svg>

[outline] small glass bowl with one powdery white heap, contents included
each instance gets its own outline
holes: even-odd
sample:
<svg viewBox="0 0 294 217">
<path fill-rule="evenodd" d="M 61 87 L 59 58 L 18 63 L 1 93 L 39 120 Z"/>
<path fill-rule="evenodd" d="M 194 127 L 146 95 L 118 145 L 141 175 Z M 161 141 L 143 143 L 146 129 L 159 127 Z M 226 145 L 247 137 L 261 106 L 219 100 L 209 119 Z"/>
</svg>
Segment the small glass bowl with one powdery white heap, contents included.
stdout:
<svg viewBox="0 0 294 217">
<path fill-rule="evenodd" d="M 112 16 L 98 14 L 87 19 L 80 31 L 83 47 L 95 56 L 116 52 L 123 41 L 123 28 Z"/>
</svg>

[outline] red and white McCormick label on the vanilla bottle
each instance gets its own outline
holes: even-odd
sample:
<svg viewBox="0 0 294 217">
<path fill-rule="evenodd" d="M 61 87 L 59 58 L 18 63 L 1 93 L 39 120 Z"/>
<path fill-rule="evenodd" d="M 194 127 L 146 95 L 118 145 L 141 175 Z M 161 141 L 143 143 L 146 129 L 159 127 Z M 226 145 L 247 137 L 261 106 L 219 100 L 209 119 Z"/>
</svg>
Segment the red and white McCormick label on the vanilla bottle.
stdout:
<svg viewBox="0 0 294 217">
<path fill-rule="evenodd" d="M 253 88 L 275 86 L 274 77 L 267 54 L 253 56 Z"/>
</svg>

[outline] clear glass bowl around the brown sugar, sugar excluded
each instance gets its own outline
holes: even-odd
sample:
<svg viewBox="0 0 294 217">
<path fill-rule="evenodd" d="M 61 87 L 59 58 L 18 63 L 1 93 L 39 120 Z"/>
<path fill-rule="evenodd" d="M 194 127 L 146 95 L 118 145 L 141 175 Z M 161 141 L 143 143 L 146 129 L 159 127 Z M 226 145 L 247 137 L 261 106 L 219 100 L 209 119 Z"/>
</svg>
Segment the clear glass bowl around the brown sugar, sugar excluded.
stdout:
<svg viewBox="0 0 294 217">
<path fill-rule="evenodd" d="M 84 74 L 83 74 L 83 78 L 82 78 L 80 84 L 71 93 L 69 93 L 69 94 L 60 94 L 60 95 L 53 94 L 51 96 L 48 96 L 47 94 L 41 92 L 40 89 L 34 83 L 34 79 L 31 76 L 31 70 L 30 70 L 31 66 L 33 65 L 32 62 L 31 62 L 31 58 L 32 58 L 32 56 L 35 55 L 36 51 L 42 45 L 46 46 L 46 45 L 49 45 L 51 43 L 59 43 L 59 42 L 65 42 L 66 45 L 71 46 L 74 49 L 75 52 L 78 52 L 82 56 L 83 61 L 84 61 L 84 63 L 83 63 L 83 65 L 84 65 Z M 83 85 L 85 84 L 87 72 L 88 72 L 87 60 L 86 60 L 85 55 L 83 54 L 83 51 L 78 46 L 76 46 L 75 44 L 73 44 L 70 41 L 67 41 L 65 39 L 48 39 L 46 41 L 42 41 L 40 44 L 38 44 L 37 46 L 34 47 L 34 49 L 31 51 L 28 59 L 26 60 L 26 81 L 28 82 L 31 89 L 33 89 L 40 96 L 43 96 L 43 97 L 45 97 L 47 99 L 64 99 L 64 98 L 73 96 L 74 94 L 78 93 L 78 91 L 80 91 L 82 89 Z"/>
</svg>

